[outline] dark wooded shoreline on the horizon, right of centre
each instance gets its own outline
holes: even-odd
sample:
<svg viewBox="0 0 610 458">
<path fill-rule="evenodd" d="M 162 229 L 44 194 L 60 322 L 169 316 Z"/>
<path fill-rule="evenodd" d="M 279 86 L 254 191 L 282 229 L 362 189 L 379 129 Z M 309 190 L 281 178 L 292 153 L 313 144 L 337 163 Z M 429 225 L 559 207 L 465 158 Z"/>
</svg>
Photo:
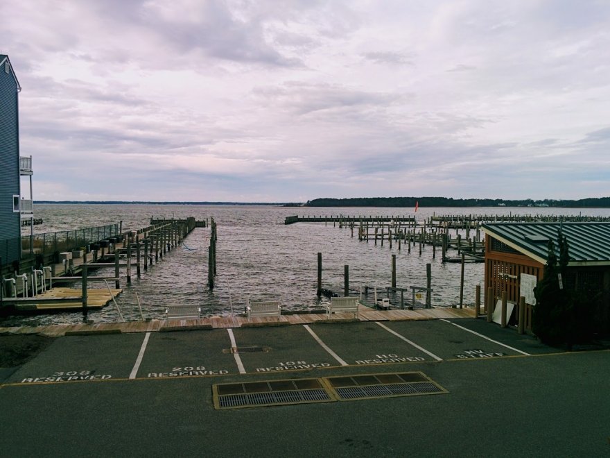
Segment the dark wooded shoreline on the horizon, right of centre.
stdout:
<svg viewBox="0 0 610 458">
<path fill-rule="evenodd" d="M 452 197 L 356 197 L 316 198 L 307 201 L 305 207 L 610 207 L 610 197 L 582 198 L 577 201 L 531 198 L 508 201 L 499 198 L 452 198 Z"/>
</svg>

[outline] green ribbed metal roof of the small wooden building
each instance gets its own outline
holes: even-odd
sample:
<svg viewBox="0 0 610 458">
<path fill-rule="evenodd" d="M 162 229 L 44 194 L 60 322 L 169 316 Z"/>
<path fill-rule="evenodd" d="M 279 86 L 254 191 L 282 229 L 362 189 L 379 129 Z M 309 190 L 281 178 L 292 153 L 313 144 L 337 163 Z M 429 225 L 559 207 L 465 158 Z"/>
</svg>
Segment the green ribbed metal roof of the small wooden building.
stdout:
<svg viewBox="0 0 610 458">
<path fill-rule="evenodd" d="M 557 232 L 568 240 L 570 266 L 610 265 L 610 223 L 487 223 L 485 232 L 511 246 L 519 253 L 546 264 L 548 239 L 555 242 L 557 257 Z"/>
</svg>

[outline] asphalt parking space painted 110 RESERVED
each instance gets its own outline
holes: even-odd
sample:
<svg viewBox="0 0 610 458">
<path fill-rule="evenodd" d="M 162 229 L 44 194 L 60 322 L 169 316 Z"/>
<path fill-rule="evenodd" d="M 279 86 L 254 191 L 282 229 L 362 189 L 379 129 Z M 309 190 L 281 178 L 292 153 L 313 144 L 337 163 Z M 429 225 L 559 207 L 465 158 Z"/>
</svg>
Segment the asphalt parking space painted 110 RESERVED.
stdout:
<svg viewBox="0 0 610 458">
<path fill-rule="evenodd" d="M 426 348 L 401 339 L 374 322 L 320 324 L 311 329 L 349 365 L 439 360 Z"/>
</svg>

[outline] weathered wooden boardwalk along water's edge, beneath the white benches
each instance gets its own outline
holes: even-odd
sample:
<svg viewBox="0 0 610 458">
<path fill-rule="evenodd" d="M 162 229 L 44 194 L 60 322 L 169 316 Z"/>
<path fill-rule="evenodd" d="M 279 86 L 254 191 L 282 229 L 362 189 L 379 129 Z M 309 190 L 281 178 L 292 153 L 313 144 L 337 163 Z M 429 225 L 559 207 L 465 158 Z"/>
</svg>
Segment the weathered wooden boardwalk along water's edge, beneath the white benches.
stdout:
<svg viewBox="0 0 610 458">
<path fill-rule="evenodd" d="M 310 323 L 347 323 L 354 321 L 418 321 L 434 319 L 473 318 L 474 309 L 453 309 L 438 307 L 415 310 L 374 310 L 360 309 L 358 319 L 350 313 L 286 314 L 247 319 L 243 316 L 211 316 L 200 319 L 129 321 L 127 323 L 81 323 L 48 326 L 21 326 L 0 328 L 0 334 L 43 334 L 59 337 L 71 334 L 113 334 L 125 332 L 188 331 L 217 328 L 245 328 L 259 326 L 303 325 Z"/>
</svg>

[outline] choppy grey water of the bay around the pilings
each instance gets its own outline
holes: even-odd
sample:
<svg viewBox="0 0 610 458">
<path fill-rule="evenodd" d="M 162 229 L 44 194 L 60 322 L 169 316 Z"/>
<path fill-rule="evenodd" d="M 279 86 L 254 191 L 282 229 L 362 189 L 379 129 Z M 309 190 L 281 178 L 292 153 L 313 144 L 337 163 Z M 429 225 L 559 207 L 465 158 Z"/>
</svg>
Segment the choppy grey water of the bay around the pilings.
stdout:
<svg viewBox="0 0 610 458">
<path fill-rule="evenodd" d="M 419 208 L 418 221 L 433 214 L 563 214 L 610 216 L 609 209 L 548 209 L 548 208 Z M 44 224 L 35 232 L 70 230 L 101 226 L 123 221 L 123 231 L 148 226 L 150 217 L 209 219 L 218 225 L 217 273 L 214 291 L 207 289 L 207 247 L 209 228 L 196 228 L 184 240 L 184 247 L 168 253 L 159 264 L 142 272 L 141 278 L 132 273 L 132 284 L 125 286 L 117 300 L 125 320 L 139 320 L 135 293 L 138 294 L 145 318 L 162 318 L 165 307 L 173 303 L 197 304 L 202 316 L 227 315 L 242 312 L 245 300 L 281 300 L 287 309 L 316 307 L 317 253 L 322 253 L 323 287 L 338 293 L 343 291 L 344 265 L 349 265 L 351 291 L 360 285 L 384 289 L 391 283 L 392 254 L 397 255 L 397 287 L 426 285 L 426 263 L 432 264 L 432 304 L 450 307 L 460 300 L 460 264 L 443 264 L 440 253 L 432 258 L 433 248 L 426 246 L 407 253 L 397 244 L 392 250 L 387 242 L 375 246 L 374 241 L 358 241 L 356 231 L 351 237 L 347 228 L 332 223 L 297 223 L 284 225 L 290 215 L 363 215 L 413 216 L 404 208 L 302 208 L 250 205 L 90 205 L 40 204 L 35 216 Z M 26 233 L 30 229 L 26 229 Z M 449 253 L 451 255 L 451 253 Z M 99 274 L 104 272 L 98 271 Z M 107 273 L 111 274 L 109 270 Z M 466 264 L 464 273 L 464 303 L 474 303 L 477 284 L 483 282 L 483 264 Z M 80 287 L 80 283 L 78 284 Z M 112 303 L 100 311 L 89 312 L 89 319 L 120 321 Z M 11 316 L 0 325 L 35 325 L 78 323 L 80 312 L 35 316 Z"/>
</svg>

